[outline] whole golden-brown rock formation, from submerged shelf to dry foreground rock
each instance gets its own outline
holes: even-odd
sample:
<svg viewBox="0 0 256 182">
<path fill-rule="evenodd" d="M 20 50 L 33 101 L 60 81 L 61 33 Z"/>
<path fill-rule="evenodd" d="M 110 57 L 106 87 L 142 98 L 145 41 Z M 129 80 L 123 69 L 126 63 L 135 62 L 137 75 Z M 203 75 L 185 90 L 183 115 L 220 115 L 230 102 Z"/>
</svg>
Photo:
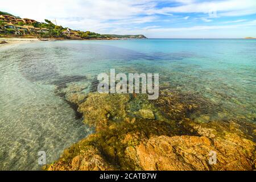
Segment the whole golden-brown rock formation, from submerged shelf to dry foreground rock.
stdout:
<svg viewBox="0 0 256 182">
<path fill-rule="evenodd" d="M 80 90 L 81 91 L 81 90 Z M 207 101 L 172 90 L 138 94 L 68 92 L 95 133 L 64 151 L 48 170 L 253 170 L 255 124 L 196 122 Z M 72 93 L 72 94 L 71 94 Z M 195 119 L 196 120 L 196 119 Z M 217 163 L 209 164 L 211 151 Z"/>
</svg>

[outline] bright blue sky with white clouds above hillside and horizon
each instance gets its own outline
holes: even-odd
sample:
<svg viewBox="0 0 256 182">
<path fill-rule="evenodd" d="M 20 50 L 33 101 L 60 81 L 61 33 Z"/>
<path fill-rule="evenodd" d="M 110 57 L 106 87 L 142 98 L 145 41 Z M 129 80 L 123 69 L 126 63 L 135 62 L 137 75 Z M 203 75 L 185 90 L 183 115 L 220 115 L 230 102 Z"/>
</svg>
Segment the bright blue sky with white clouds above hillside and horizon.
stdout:
<svg viewBox="0 0 256 182">
<path fill-rule="evenodd" d="M 0 0 L 0 11 L 100 34 L 256 37 L 256 0 Z"/>
</svg>

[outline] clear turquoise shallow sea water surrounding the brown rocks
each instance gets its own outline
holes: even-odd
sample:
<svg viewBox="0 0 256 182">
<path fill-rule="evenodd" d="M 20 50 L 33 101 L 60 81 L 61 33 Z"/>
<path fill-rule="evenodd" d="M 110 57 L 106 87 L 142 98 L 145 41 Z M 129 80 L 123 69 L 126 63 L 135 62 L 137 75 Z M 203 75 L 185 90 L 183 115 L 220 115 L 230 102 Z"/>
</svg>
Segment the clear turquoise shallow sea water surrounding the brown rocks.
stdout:
<svg viewBox="0 0 256 182">
<path fill-rule="evenodd" d="M 90 132 L 56 94 L 98 73 L 159 73 L 160 85 L 212 102 L 210 120 L 255 122 L 256 40 L 39 42 L 0 48 L 0 169 L 40 169 Z M 193 118 L 200 117 L 194 115 Z"/>
</svg>

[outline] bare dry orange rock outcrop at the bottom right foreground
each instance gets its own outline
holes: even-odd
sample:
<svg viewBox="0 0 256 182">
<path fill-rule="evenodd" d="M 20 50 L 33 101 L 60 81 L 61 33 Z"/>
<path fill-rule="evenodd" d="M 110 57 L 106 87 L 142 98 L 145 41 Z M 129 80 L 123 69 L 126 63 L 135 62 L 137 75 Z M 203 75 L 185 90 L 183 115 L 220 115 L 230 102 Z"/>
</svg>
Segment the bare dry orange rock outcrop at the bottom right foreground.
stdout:
<svg viewBox="0 0 256 182">
<path fill-rule="evenodd" d="M 208 137 L 152 137 L 126 154 L 143 170 L 252 170 L 255 144 L 228 135 L 230 140 Z M 210 152 L 216 164 L 209 164 Z"/>
</svg>

